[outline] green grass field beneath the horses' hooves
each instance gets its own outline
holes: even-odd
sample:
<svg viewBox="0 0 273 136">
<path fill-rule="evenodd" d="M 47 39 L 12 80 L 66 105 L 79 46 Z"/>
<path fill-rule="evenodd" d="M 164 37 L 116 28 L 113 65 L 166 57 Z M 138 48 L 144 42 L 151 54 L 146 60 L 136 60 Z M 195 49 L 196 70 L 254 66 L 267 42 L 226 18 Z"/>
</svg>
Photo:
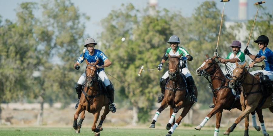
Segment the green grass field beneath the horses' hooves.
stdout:
<svg viewBox="0 0 273 136">
<path fill-rule="evenodd" d="M 219 136 L 224 136 L 224 128 L 220 128 Z M 273 131 L 268 131 L 269 135 Z M 163 128 L 103 128 L 101 136 L 164 136 L 167 130 Z M 205 128 L 204 130 L 197 131 L 193 128 L 178 128 L 174 131 L 173 136 L 211 136 L 214 134 L 214 128 Z M 49 128 L 49 127 L 0 127 L 1 136 L 93 136 L 94 133 L 90 128 L 82 128 L 81 133 L 77 134 L 71 127 L 63 128 Z M 243 129 L 233 131 L 230 136 L 244 135 Z M 251 136 L 263 136 L 261 131 L 251 129 L 249 131 Z"/>
</svg>

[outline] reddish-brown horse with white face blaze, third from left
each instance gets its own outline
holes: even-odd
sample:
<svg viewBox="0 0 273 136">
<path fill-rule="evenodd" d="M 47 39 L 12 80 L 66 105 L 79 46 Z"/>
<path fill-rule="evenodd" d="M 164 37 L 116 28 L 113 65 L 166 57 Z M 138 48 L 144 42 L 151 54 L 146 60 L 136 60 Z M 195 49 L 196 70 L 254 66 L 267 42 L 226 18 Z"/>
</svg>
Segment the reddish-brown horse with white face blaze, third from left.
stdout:
<svg viewBox="0 0 273 136">
<path fill-rule="evenodd" d="M 205 78 L 210 83 L 212 92 L 213 92 L 213 103 L 215 107 L 211 110 L 209 114 L 205 117 L 205 119 L 201 122 L 200 125 L 196 126 L 196 130 L 201 130 L 202 127 L 207 123 L 207 121 L 216 114 L 216 125 L 214 130 L 214 136 L 218 136 L 219 128 L 221 124 L 222 112 L 223 110 L 231 110 L 233 108 L 237 108 L 242 111 L 240 101 L 235 100 L 235 96 L 232 95 L 231 90 L 228 87 L 228 83 L 230 79 L 224 76 L 220 66 L 217 64 L 219 62 L 215 61 L 215 56 L 213 58 L 209 58 L 206 55 L 207 59 L 202 63 L 202 65 L 196 70 L 198 76 L 205 76 Z M 208 76 L 211 77 L 211 81 L 209 81 Z M 261 128 L 256 125 L 255 112 L 252 112 L 252 121 L 253 127 L 260 131 Z M 260 114 L 258 114 L 259 116 Z M 259 119 L 261 116 L 259 116 Z"/>
</svg>

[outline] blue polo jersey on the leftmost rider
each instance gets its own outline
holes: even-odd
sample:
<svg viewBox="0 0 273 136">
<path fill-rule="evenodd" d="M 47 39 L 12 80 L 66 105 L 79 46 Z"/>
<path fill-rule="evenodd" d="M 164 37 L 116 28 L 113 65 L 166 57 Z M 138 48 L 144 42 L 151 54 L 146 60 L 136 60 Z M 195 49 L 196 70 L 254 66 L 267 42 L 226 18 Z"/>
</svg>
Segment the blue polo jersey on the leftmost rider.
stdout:
<svg viewBox="0 0 273 136">
<path fill-rule="evenodd" d="M 90 55 L 88 53 L 88 50 L 86 50 L 86 52 L 84 53 L 83 56 L 83 60 L 81 60 L 81 57 L 83 56 L 83 53 L 79 56 L 78 62 L 79 63 L 83 63 L 83 61 L 85 61 L 85 59 L 87 59 L 87 61 L 89 63 L 96 63 L 96 61 L 99 59 L 99 63 L 97 65 L 102 66 L 104 64 L 104 61 L 107 60 L 108 58 L 106 57 L 106 55 L 97 49 L 94 49 L 94 54 Z M 104 68 L 99 69 L 99 71 L 104 70 Z"/>
</svg>

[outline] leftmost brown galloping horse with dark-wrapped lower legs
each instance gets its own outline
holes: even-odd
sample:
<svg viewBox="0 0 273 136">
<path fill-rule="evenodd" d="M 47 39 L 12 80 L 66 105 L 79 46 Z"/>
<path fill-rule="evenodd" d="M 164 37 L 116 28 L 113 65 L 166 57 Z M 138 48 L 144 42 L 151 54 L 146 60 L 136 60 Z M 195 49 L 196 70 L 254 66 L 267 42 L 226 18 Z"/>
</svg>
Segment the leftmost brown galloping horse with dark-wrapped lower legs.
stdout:
<svg viewBox="0 0 273 136">
<path fill-rule="evenodd" d="M 109 99 L 107 96 L 99 91 L 98 89 L 98 70 L 96 65 L 98 64 L 98 60 L 96 63 L 89 63 L 86 60 L 86 83 L 85 86 L 83 86 L 83 92 L 80 98 L 80 103 L 77 108 L 76 113 L 74 114 L 74 122 L 73 122 L 73 128 L 76 130 L 76 133 L 80 133 L 80 128 L 82 126 L 82 122 L 85 118 L 85 110 L 87 110 L 90 113 L 93 113 L 94 115 L 94 121 L 93 126 L 91 127 L 92 131 L 95 132 L 95 136 L 99 136 L 99 131 L 102 131 L 102 124 L 106 117 L 106 115 L 109 113 Z M 97 121 L 99 119 L 99 112 L 104 106 L 104 112 L 103 115 L 100 118 L 100 122 L 98 127 L 96 127 Z M 79 113 L 81 113 L 81 118 L 79 120 L 79 123 L 77 124 L 77 119 L 79 117 Z"/>
</svg>

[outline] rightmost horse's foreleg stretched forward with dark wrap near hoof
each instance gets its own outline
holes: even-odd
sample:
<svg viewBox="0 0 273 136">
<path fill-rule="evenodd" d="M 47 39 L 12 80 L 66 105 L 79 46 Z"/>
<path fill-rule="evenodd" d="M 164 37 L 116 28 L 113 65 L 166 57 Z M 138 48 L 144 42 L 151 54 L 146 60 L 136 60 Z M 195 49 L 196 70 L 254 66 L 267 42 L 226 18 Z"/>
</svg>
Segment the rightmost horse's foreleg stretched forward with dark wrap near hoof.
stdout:
<svg viewBox="0 0 273 136">
<path fill-rule="evenodd" d="M 253 106 L 255 107 L 255 106 Z M 242 106 L 242 110 L 243 112 L 240 114 L 240 116 L 235 120 L 235 122 L 232 124 L 232 126 L 230 128 L 227 129 L 227 131 L 225 131 L 223 134 L 224 135 L 229 135 L 230 132 L 232 132 L 234 130 L 234 128 L 236 127 L 236 125 L 238 123 L 240 123 L 243 118 L 245 118 L 246 116 L 248 116 L 251 112 L 254 111 L 254 108 L 252 108 L 252 106 L 247 106 L 245 109 Z"/>
</svg>

